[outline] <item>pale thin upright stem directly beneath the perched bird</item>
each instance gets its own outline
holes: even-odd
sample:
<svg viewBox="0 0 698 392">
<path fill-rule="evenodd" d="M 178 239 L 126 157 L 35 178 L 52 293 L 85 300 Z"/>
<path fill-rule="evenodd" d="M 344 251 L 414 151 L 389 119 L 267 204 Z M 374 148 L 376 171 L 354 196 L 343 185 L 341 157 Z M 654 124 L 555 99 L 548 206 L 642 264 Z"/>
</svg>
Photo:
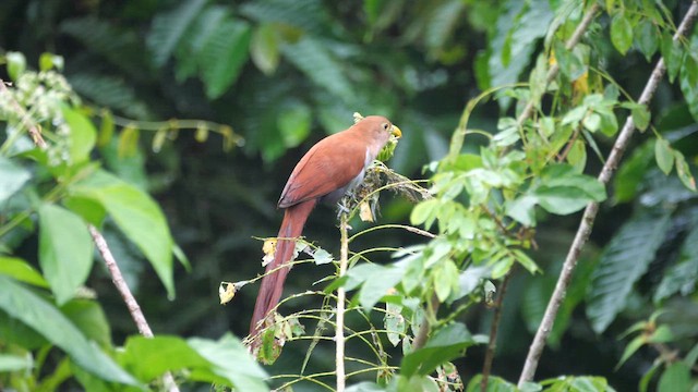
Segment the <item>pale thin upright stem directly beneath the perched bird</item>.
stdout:
<svg viewBox="0 0 698 392">
<path fill-rule="evenodd" d="M 339 250 L 339 275 L 341 279 L 347 273 L 347 264 L 349 262 L 349 241 L 347 231 L 347 215 L 341 215 L 339 222 L 339 231 L 341 235 L 341 249 Z M 337 327 L 335 327 L 335 366 L 337 370 L 337 392 L 344 392 L 347 382 L 345 371 L 345 301 L 347 299 L 347 291 L 344 286 L 337 289 Z"/>
</svg>

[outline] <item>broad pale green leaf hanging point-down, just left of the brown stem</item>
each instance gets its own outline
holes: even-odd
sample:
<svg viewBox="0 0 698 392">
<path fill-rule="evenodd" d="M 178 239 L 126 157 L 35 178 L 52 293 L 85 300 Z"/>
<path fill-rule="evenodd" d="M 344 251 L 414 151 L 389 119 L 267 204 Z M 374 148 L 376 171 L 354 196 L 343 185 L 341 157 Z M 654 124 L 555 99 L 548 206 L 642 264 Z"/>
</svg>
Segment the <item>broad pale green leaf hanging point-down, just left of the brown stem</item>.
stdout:
<svg viewBox="0 0 698 392">
<path fill-rule="evenodd" d="M 71 299 L 92 269 L 93 245 L 87 225 L 73 212 L 43 204 L 39 215 L 39 264 L 61 305 Z"/>
</svg>

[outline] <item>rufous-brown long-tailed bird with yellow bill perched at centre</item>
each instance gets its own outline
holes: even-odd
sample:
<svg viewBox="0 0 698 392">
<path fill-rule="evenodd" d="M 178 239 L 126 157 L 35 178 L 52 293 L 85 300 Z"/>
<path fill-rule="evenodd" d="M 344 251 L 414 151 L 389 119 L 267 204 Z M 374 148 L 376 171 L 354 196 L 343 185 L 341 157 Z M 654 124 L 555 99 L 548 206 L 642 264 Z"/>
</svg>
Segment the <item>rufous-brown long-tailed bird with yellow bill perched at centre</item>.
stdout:
<svg viewBox="0 0 698 392">
<path fill-rule="evenodd" d="M 317 142 L 296 164 L 288 179 L 279 208 L 285 208 L 279 229 L 274 260 L 266 266 L 266 274 L 254 305 L 250 324 L 250 335 L 254 336 L 264 328 L 272 309 L 281 298 L 284 281 L 291 266 L 296 242 L 303 232 L 303 225 L 317 201 L 337 203 L 348 191 L 363 181 L 366 167 L 373 162 L 390 135 L 401 136 L 400 128 L 388 119 L 370 115 L 353 126 Z"/>
</svg>

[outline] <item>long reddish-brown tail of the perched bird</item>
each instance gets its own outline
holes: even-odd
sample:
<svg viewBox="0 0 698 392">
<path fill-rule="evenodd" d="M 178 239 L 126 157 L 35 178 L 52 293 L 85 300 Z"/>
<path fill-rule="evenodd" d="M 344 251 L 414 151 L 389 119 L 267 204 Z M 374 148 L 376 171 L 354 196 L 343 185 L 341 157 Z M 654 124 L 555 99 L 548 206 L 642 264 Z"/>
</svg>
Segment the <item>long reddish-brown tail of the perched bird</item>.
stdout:
<svg viewBox="0 0 698 392">
<path fill-rule="evenodd" d="M 281 221 L 278 237 L 299 237 L 303 233 L 303 225 L 305 224 L 305 220 L 308 220 L 308 216 L 310 216 L 310 212 L 313 210 L 313 207 L 315 207 L 315 199 L 311 199 L 287 208 L 284 212 L 284 220 Z M 279 240 L 276 243 L 274 261 L 266 266 L 266 272 L 291 261 L 294 247 L 294 241 Z M 254 314 L 252 314 L 252 322 L 250 323 L 251 336 L 254 336 L 262 328 L 264 328 L 264 324 L 260 321 L 266 318 L 269 310 L 279 303 L 284 291 L 284 281 L 286 281 L 286 275 L 290 270 L 291 267 L 288 266 L 262 278 L 260 294 L 257 294 L 257 301 L 254 304 Z"/>
</svg>

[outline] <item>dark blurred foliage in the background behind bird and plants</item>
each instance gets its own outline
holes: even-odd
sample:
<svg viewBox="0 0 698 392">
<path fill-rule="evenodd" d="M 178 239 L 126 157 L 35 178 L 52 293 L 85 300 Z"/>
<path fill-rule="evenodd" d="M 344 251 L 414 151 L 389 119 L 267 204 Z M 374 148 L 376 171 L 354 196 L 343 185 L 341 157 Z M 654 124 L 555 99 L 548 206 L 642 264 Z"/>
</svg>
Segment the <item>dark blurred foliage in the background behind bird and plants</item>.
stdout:
<svg viewBox="0 0 698 392">
<path fill-rule="evenodd" d="M 177 267 L 177 297 L 170 299 L 134 246 L 113 226 L 105 228 L 155 333 L 218 338 L 232 331 L 243 336 L 256 286 L 244 287 L 233 303 L 221 307 L 218 283 L 261 272 L 262 244 L 253 237 L 276 233 L 281 217 L 275 208 L 277 197 L 309 146 L 347 127 L 354 111 L 384 114 L 404 131 L 390 166 L 410 177 L 425 175 L 423 166 L 447 152 L 448 139 L 468 100 L 489 87 L 516 83 L 530 71 L 553 10 L 564 3 L 5 0 L 0 4 L 0 49 L 25 53 L 29 66 L 38 63 L 43 52 L 62 56 L 63 73 L 85 102 L 113 113 L 118 134 L 113 148 L 103 157 L 104 164 L 156 197 L 192 265 L 191 271 Z M 666 1 L 664 7 L 673 21 L 678 21 L 687 3 Z M 588 38 L 605 34 L 610 24 L 609 19 L 600 20 Z M 648 41 L 647 32 L 637 28 L 635 47 L 626 54 L 618 53 L 607 40 L 592 53 L 630 97 L 639 96 L 659 58 L 654 52 L 645 54 L 643 46 L 659 44 L 657 39 Z M 694 33 L 687 46 L 696 49 L 697 42 Z M 679 83 L 664 82 L 651 108 L 658 133 L 665 133 L 670 140 L 672 132 L 688 135 L 676 136 L 675 148 L 690 164 L 696 163 L 698 154 L 696 100 L 686 101 Z M 503 98 L 480 106 L 469 126 L 496 132 L 500 114 L 514 110 L 506 101 Z M 212 127 L 222 135 L 181 131 L 177 139 L 168 139 L 154 152 L 159 125 L 148 128 L 145 122 L 169 119 L 227 124 L 244 144 L 237 145 L 225 127 Z M 128 131 L 132 121 L 140 130 L 135 136 Z M 123 147 L 134 140 L 137 148 Z M 224 148 L 230 140 L 232 148 Z M 545 352 L 538 372 L 540 378 L 601 375 L 617 390 L 635 389 L 657 356 L 652 348 L 643 348 L 614 370 L 626 346 L 617 335 L 631 322 L 649 317 L 652 309 L 647 305 L 652 303 L 652 293 L 679 253 L 690 253 L 686 257 L 697 264 L 695 250 L 682 250 L 681 244 L 695 233 L 698 220 L 695 193 L 685 191 L 675 175 L 660 173 L 651 151 L 643 147 L 651 140 L 650 132 L 638 135 L 626 155 L 635 166 L 621 169 L 615 193 L 602 207 L 583 255 L 580 279 L 591 279 L 601 249 L 624 225 L 629 224 L 626 230 L 640 237 L 647 234 L 637 222 L 638 211 L 672 205 L 677 212 L 657 234 L 663 237 L 657 245 L 658 257 L 651 258 L 649 273 L 640 273 L 642 278 L 627 293 L 629 299 L 621 317 L 606 314 L 613 322 L 607 329 L 597 328 L 602 333 L 594 332 L 593 322 L 599 321 L 589 320 L 583 304 L 566 310 L 566 328 L 554 334 L 553 348 Z M 477 152 L 481 143 L 467 138 L 466 150 Z M 601 137 L 597 143 L 606 152 L 612 139 Z M 128 154 L 117 154 L 123 149 Z M 591 150 L 588 157 L 586 172 L 594 175 L 602 163 Z M 381 222 L 406 223 L 411 208 L 400 199 L 384 203 Z M 539 250 L 531 256 L 545 273 L 532 279 L 518 271 L 512 282 L 495 375 L 517 378 L 578 219 L 579 215 L 540 219 Z M 354 228 L 360 225 L 357 222 Z M 317 208 L 305 235 L 336 253 L 335 212 Z M 25 238 L 16 254 L 36 259 L 36 237 Z M 413 236 L 396 232 L 357 246 L 413 243 Z M 618 270 L 624 271 L 633 257 L 626 255 L 619 262 Z M 308 290 L 329 273 L 327 266 L 297 267 L 287 292 Z M 666 305 L 684 309 L 681 320 L 675 321 L 679 327 L 695 322 L 698 315 L 693 273 L 686 283 L 688 296 L 672 298 Z M 121 344 L 134 333 L 133 323 L 101 267 L 93 269 L 88 285 L 104 306 L 115 343 Z M 590 290 L 581 285 L 569 295 L 574 303 L 581 303 L 593 297 L 587 296 Z M 663 304 L 663 298 L 654 295 L 654 303 Z M 317 305 L 293 302 L 288 313 Z M 486 333 L 490 317 L 491 311 L 481 306 L 465 321 L 473 333 Z M 304 352 L 302 345 L 288 346 L 272 372 L 298 371 L 294 367 Z M 316 354 L 311 366 L 326 366 L 332 355 Z M 461 376 L 481 371 L 483 355 L 483 348 L 473 348 L 459 360 Z"/>
</svg>

